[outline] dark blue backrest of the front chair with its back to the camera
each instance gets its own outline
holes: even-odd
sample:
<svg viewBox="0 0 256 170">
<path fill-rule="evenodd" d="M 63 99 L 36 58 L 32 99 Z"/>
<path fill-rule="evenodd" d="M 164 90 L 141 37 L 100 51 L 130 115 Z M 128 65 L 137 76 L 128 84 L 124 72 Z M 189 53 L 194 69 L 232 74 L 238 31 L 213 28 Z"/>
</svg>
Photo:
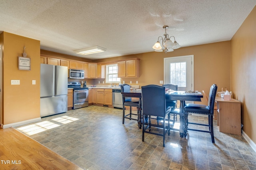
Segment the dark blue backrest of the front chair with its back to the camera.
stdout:
<svg viewBox="0 0 256 170">
<path fill-rule="evenodd" d="M 147 85 L 141 87 L 142 114 L 164 117 L 166 114 L 165 87 Z"/>
</svg>

